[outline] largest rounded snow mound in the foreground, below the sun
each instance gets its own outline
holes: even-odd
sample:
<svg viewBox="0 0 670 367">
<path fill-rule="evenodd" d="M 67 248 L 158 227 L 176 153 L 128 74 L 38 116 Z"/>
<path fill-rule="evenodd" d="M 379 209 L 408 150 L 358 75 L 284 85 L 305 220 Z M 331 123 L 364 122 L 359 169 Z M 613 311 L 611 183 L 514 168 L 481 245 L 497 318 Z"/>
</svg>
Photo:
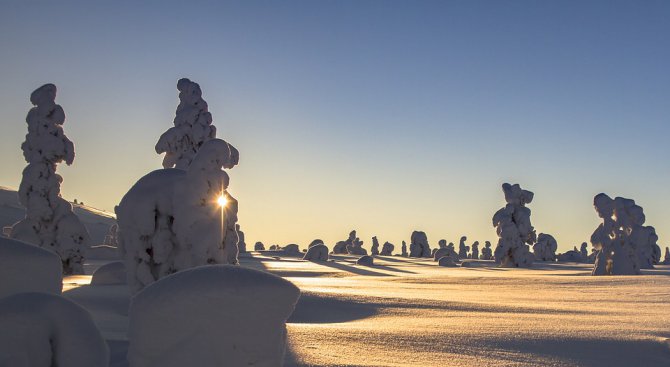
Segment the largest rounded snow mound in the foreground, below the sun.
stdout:
<svg viewBox="0 0 670 367">
<path fill-rule="evenodd" d="M 165 277 L 130 305 L 130 367 L 281 366 L 299 296 L 291 282 L 240 266 Z"/>
</svg>

